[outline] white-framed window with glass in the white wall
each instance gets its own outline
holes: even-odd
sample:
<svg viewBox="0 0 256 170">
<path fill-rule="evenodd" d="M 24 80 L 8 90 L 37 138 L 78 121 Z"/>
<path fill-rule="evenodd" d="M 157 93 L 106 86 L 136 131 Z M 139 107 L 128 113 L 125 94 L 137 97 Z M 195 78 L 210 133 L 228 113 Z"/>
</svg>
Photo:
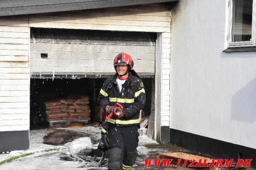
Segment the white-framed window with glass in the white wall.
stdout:
<svg viewBox="0 0 256 170">
<path fill-rule="evenodd" d="M 256 0 L 229 0 L 228 46 L 256 46 Z"/>
</svg>

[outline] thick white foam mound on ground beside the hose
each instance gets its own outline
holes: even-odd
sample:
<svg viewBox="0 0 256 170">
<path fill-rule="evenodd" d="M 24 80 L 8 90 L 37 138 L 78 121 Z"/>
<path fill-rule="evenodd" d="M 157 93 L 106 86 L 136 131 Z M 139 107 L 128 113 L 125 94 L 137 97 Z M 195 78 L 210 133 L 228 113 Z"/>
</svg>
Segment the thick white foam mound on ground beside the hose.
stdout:
<svg viewBox="0 0 256 170">
<path fill-rule="evenodd" d="M 69 147 L 72 149 L 74 153 L 79 153 L 83 149 L 92 147 L 91 138 L 83 137 L 75 139 L 70 143 Z"/>
</svg>

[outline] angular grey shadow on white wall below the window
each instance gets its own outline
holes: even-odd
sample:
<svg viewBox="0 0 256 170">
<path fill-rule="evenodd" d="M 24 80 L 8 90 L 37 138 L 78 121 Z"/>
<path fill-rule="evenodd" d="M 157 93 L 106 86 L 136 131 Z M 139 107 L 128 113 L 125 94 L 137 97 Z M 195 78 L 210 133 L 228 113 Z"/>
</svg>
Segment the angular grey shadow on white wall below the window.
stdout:
<svg viewBox="0 0 256 170">
<path fill-rule="evenodd" d="M 256 120 L 256 78 L 233 95 L 231 119 L 249 123 Z"/>
</svg>

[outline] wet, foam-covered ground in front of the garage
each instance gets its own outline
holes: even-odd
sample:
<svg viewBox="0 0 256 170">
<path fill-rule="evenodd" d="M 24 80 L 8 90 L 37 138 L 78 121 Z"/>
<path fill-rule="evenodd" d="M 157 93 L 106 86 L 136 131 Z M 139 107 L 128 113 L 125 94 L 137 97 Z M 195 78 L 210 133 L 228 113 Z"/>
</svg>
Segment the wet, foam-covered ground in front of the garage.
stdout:
<svg viewBox="0 0 256 170">
<path fill-rule="evenodd" d="M 69 146 L 69 142 L 80 137 L 90 137 L 92 142 L 92 149 L 82 150 L 77 155 L 83 159 L 95 160 L 92 155 L 97 148 L 98 141 L 100 139 L 100 129 L 95 128 L 91 125 L 79 129 L 70 129 L 70 128 L 43 128 L 43 129 L 34 129 L 30 130 L 30 147 L 26 151 L 11 151 L 9 154 L 0 154 L 0 161 L 7 158 L 18 156 L 20 154 L 41 151 L 44 149 L 51 148 L 63 148 Z M 189 150 L 186 150 L 181 147 L 173 146 L 172 144 L 158 144 L 157 142 L 150 140 L 146 136 L 139 138 L 139 147 L 138 149 L 138 158 L 133 169 L 173 169 L 173 168 L 164 168 L 160 166 L 159 168 L 144 167 L 145 159 L 157 159 L 158 153 L 163 152 L 187 152 L 193 153 Z M 99 159 L 99 158 L 97 158 Z M 76 160 L 71 157 L 67 149 L 60 151 L 51 151 L 44 153 L 36 153 L 30 156 L 12 160 L 8 163 L 0 165 L 0 169 L 8 170 L 76 170 L 76 169 L 107 169 L 107 159 L 100 167 L 89 167 L 85 165 L 84 162 Z M 188 168 L 178 168 L 178 169 L 188 169 Z"/>
</svg>

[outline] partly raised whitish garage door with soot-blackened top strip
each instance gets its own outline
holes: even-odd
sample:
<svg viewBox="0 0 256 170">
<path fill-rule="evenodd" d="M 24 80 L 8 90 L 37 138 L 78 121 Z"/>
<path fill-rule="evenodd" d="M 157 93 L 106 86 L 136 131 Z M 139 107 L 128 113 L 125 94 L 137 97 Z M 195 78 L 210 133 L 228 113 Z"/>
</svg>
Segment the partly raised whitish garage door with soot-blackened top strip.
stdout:
<svg viewBox="0 0 256 170">
<path fill-rule="evenodd" d="M 155 34 L 33 29 L 30 72 L 114 74 L 114 57 L 129 53 L 134 70 L 155 74 Z M 41 57 L 47 54 L 46 57 Z"/>
</svg>

